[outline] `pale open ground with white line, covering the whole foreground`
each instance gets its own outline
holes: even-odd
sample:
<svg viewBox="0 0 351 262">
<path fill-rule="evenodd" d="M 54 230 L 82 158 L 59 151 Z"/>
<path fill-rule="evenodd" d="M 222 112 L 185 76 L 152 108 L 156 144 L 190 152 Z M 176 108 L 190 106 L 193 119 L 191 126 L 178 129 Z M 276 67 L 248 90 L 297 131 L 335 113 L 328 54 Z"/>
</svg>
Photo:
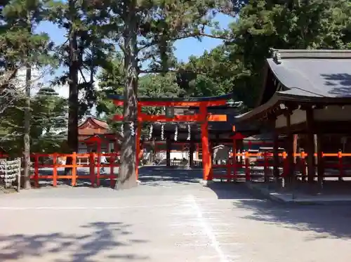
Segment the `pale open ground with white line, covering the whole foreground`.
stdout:
<svg viewBox="0 0 351 262">
<path fill-rule="evenodd" d="M 0 261 L 348 262 L 351 209 L 283 205 L 201 171 L 140 170 L 142 185 L 0 196 Z"/>
</svg>

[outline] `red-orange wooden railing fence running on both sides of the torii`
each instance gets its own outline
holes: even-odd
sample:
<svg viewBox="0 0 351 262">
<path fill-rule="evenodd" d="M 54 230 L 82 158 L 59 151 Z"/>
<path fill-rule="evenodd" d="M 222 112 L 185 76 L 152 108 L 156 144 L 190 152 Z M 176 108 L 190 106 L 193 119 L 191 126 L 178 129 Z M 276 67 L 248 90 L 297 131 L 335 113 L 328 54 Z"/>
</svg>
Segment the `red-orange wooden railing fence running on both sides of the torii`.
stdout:
<svg viewBox="0 0 351 262">
<path fill-rule="evenodd" d="M 34 181 L 36 186 L 39 186 L 39 181 L 41 179 L 52 179 L 53 186 L 57 185 L 58 179 L 69 179 L 71 180 L 72 185 L 76 185 L 77 179 L 79 178 L 89 178 L 91 181 L 91 185 L 100 185 L 101 179 L 110 179 L 110 185 L 113 187 L 116 179 L 118 178 L 118 174 L 114 173 L 114 167 L 119 166 L 119 162 L 116 162 L 117 158 L 119 157 L 119 152 L 113 153 L 93 153 L 90 154 L 60 154 L 60 153 L 53 153 L 53 154 L 41 154 L 41 153 L 33 153 L 31 155 L 31 161 L 33 164 L 33 173 L 31 175 L 31 179 Z M 100 163 L 100 157 L 105 156 L 109 158 L 108 164 Z M 279 167 L 282 167 L 283 172 L 282 176 L 285 176 L 287 170 L 289 169 L 289 164 L 287 161 L 288 154 L 286 152 L 279 153 Z M 0 155 L 1 157 L 8 157 L 7 155 Z M 45 157 L 46 159 L 52 159 L 52 163 L 44 164 L 42 163 L 41 158 Z M 60 164 L 58 163 L 59 157 L 72 157 L 72 164 Z M 237 153 L 236 157 L 244 157 L 244 161 L 242 162 L 235 162 L 233 163 L 233 159 L 228 159 L 227 164 L 212 164 L 212 177 L 213 178 L 225 178 L 227 181 L 234 180 L 236 178 L 244 176 L 246 181 L 251 180 L 251 175 L 254 167 L 263 166 L 263 174 L 264 176 L 268 176 L 270 169 L 274 166 L 272 162 L 273 154 L 270 152 L 258 152 L 258 153 Z M 257 162 L 254 161 L 251 164 L 250 158 L 255 157 L 263 157 L 263 161 Z M 303 176 L 306 175 L 306 157 L 307 153 L 301 152 L 298 154 L 294 154 L 294 157 L 298 158 L 298 164 L 296 164 L 295 169 L 300 169 L 300 173 Z M 314 157 L 317 157 L 317 153 L 314 153 Z M 329 153 L 329 152 L 322 152 L 322 159 L 324 161 L 322 163 L 324 169 L 336 169 L 338 170 L 338 178 L 346 177 L 345 171 L 347 169 L 351 169 L 351 161 L 346 162 L 345 158 L 351 157 L 351 153 L 343 153 L 343 152 L 336 152 L 336 153 Z M 89 159 L 88 164 L 79 164 L 78 159 L 85 158 Z M 326 159 L 333 158 L 334 162 L 326 162 Z M 59 168 L 71 168 L 72 171 L 68 174 L 59 175 L 58 169 Z M 89 168 L 88 175 L 79 175 L 77 173 L 77 168 Z M 100 169 L 102 167 L 109 167 L 110 173 L 109 174 L 102 174 L 100 173 Z M 52 174 L 45 175 L 41 174 L 39 169 L 49 168 L 53 169 Z M 214 174 L 216 169 L 226 169 L 225 174 Z M 241 169 L 241 172 L 239 172 Z M 95 171 L 96 170 L 96 171 Z M 324 174 L 324 177 L 330 176 L 328 173 Z M 335 175 L 333 175 L 335 177 Z"/>
</svg>

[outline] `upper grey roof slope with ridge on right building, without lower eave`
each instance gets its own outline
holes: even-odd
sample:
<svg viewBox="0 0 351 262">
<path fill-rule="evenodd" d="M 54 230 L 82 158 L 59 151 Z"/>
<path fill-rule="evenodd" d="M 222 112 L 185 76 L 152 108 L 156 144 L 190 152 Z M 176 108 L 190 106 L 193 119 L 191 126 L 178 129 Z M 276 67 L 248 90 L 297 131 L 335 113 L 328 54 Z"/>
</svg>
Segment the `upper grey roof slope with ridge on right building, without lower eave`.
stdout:
<svg viewBox="0 0 351 262">
<path fill-rule="evenodd" d="M 288 96 L 351 97 L 351 51 L 274 50 L 267 63 Z"/>
</svg>

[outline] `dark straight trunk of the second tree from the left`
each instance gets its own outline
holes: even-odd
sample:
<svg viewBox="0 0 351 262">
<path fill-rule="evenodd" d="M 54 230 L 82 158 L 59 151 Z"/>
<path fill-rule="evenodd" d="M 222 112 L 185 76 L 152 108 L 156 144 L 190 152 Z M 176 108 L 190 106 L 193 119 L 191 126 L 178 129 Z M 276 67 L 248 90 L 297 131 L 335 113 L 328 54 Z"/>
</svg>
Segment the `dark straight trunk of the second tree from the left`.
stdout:
<svg viewBox="0 0 351 262">
<path fill-rule="evenodd" d="M 75 13 L 74 1 L 69 1 L 69 10 Z M 75 20 L 74 17 L 71 18 Z M 78 71 L 77 34 L 71 29 L 69 33 L 69 95 L 68 95 L 68 132 L 67 144 L 69 152 L 78 151 Z M 66 164 L 72 164 L 72 157 L 67 157 Z M 72 168 L 66 168 L 65 173 L 71 173 Z"/>
</svg>

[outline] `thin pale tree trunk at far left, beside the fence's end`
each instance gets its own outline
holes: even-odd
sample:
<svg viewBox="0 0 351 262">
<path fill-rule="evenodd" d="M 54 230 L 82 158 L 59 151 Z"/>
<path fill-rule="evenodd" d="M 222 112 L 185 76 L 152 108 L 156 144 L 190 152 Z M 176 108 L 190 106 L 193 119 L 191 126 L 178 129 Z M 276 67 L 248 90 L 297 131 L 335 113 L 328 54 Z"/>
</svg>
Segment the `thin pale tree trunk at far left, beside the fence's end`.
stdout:
<svg viewBox="0 0 351 262">
<path fill-rule="evenodd" d="M 24 130 L 23 130 L 23 144 L 24 144 L 24 165 L 23 165 L 23 188 L 30 189 L 30 86 L 32 78 L 32 68 L 27 66 L 25 73 L 25 119 L 24 119 Z"/>
</svg>

